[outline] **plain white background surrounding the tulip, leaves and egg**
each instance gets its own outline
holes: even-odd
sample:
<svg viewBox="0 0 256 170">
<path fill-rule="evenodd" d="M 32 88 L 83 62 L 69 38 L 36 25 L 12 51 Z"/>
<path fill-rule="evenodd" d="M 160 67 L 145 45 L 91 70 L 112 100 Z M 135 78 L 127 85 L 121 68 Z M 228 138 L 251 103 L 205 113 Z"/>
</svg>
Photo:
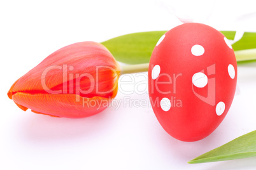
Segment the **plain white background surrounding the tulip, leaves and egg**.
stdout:
<svg viewBox="0 0 256 170">
<path fill-rule="evenodd" d="M 0 169 L 255 169 L 255 157 L 187 161 L 256 129 L 256 62 L 239 65 L 238 95 L 222 124 L 190 143 L 169 136 L 150 107 L 123 102 L 92 117 L 66 119 L 23 112 L 7 96 L 13 82 L 63 46 L 169 30 L 181 24 L 175 14 L 218 30 L 256 32 L 253 1 L 179 2 L 1 1 Z M 135 83 L 146 81 L 132 76 Z M 125 97 L 149 102 L 146 93 L 119 91 L 116 99 Z"/>
</svg>

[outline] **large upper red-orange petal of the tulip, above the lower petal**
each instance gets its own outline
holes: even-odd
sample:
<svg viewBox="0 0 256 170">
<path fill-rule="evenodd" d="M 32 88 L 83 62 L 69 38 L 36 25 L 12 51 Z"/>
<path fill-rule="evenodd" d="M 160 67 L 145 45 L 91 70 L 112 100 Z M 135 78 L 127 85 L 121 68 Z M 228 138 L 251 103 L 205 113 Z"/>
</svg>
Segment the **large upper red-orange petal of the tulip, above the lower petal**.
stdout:
<svg viewBox="0 0 256 170">
<path fill-rule="evenodd" d="M 115 73 L 104 67 L 116 70 Z M 97 68 L 98 74 L 96 77 Z M 87 77 L 87 75 L 91 77 Z M 77 94 L 80 96 L 113 96 L 115 77 L 120 68 L 110 51 L 97 42 L 78 42 L 61 48 L 45 58 L 18 79 L 8 92 L 9 98 L 17 92 Z M 92 80 L 93 79 L 93 80 Z M 78 80 L 78 81 L 77 81 Z M 92 83 L 94 81 L 94 83 Z M 97 88 L 101 92 L 97 93 Z M 91 91 L 87 91 L 92 88 Z M 112 90 L 112 91 L 111 91 Z M 83 93 L 80 93 L 83 91 Z M 85 93 L 84 93 L 85 91 Z M 79 93 L 78 93 L 79 92 Z M 87 92 L 87 93 L 86 93 Z"/>
</svg>

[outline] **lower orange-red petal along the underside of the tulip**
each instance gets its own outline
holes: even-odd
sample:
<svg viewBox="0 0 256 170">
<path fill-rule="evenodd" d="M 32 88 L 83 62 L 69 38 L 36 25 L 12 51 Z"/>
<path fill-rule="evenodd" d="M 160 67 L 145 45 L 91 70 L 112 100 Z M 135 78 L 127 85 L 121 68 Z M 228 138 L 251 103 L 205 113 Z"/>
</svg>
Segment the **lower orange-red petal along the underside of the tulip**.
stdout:
<svg viewBox="0 0 256 170">
<path fill-rule="evenodd" d="M 111 102 L 110 98 L 92 97 L 83 98 L 73 94 L 30 94 L 15 93 L 12 96 L 15 103 L 24 108 L 31 108 L 38 114 L 52 115 L 55 117 L 81 118 L 103 111 Z"/>
</svg>

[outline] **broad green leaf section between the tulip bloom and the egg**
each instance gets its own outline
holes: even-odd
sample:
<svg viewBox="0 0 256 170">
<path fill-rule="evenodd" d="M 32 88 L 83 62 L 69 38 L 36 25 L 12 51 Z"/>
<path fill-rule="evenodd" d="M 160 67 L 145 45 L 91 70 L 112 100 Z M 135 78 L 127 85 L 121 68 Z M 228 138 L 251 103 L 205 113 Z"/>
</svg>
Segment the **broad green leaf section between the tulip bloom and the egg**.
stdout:
<svg viewBox="0 0 256 170">
<path fill-rule="evenodd" d="M 101 42 L 118 62 L 148 63 L 155 44 L 166 31 L 138 32 Z"/>
</svg>

